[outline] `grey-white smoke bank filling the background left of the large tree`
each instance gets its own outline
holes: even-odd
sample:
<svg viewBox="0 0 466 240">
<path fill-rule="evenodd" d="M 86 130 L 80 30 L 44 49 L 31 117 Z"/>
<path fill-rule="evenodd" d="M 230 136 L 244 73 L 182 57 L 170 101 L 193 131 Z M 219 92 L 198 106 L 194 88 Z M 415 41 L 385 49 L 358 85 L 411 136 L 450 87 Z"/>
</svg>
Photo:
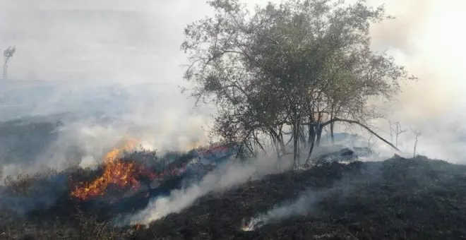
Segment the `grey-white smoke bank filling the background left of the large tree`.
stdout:
<svg viewBox="0 0 466 240">
<path fill-rule="evenodd" d="M 178 88 L 183 28 L 208 14 L 205 4 L 6 0 L 0 9 L 0 45 L 18 49 L 0 80 L 0 121 L 20 119 L 0 136 L 3 177 L 92 167 L 125 137 L 158 151 L 208 143 L 212 109 L 194 109 Z M 23 138 L 30 128 L 35 140 Z"/>
</svg>

